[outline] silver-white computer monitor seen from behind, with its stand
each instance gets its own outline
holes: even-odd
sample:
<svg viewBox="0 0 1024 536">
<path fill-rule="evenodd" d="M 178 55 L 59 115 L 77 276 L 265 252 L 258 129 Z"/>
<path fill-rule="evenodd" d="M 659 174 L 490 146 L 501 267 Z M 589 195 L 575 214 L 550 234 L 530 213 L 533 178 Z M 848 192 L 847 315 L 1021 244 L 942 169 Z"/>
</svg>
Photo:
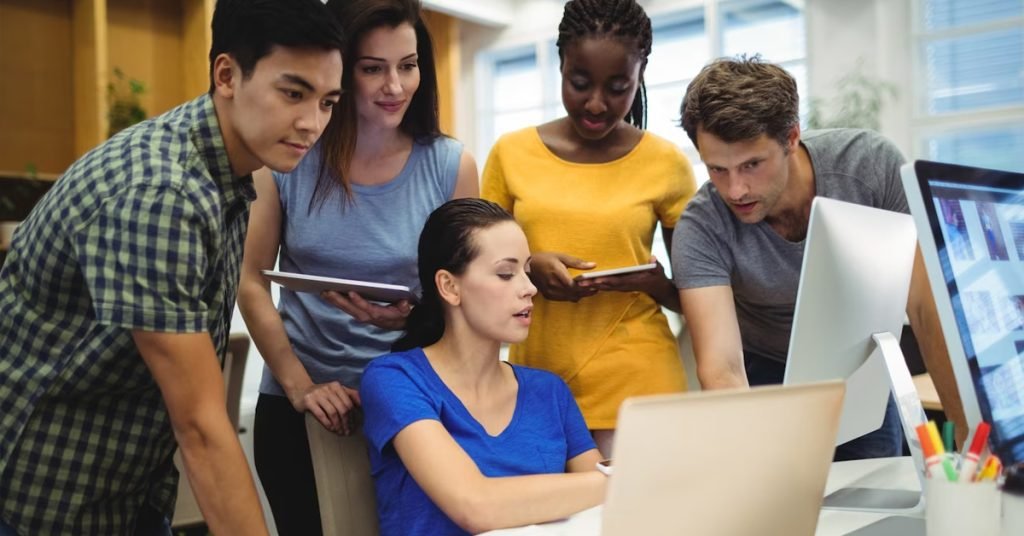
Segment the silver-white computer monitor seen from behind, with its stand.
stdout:
<svg viewBox="0 0 1024 536">
<path fill-rule="evenodd" d="M 899 348 L 916 243 L 907 214 L 814 199 L 783 383 L 846 380 L 837 445 L 878 429 L 892 394 L 923 479 L 914 427 L 926 417 Z M 894 510 L 920 503 L 918 492 L 858 489 L 824 504 Z"/>
</svg>

